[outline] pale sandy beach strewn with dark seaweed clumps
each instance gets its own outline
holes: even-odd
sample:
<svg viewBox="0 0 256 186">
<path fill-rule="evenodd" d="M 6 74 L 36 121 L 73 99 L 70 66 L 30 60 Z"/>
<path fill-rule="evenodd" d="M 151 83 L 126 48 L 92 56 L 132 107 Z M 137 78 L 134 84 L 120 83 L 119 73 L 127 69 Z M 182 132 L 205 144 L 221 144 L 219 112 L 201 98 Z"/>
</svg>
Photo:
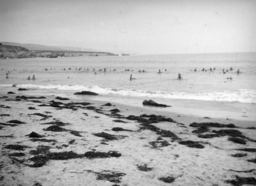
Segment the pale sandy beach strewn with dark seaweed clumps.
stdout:
<svg viewBox="0 0 256 186">
<path fill-rule="evenodd" d="M 0 185 L 256 184 L 254 121 L 23 95 L 0 96 Z"/>
</svg>

